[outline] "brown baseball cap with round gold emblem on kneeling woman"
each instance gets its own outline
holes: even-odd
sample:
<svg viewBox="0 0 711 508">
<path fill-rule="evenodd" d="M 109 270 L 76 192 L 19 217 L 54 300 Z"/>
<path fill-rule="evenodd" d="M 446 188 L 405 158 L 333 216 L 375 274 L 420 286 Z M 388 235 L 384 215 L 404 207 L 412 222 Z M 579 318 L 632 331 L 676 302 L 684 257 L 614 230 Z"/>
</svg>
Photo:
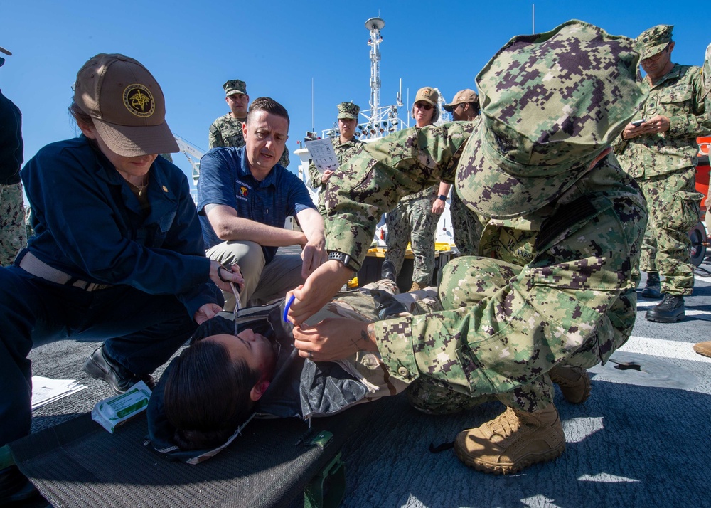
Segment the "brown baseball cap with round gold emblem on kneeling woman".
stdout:
<svg viewBox="0 0 711 508">
<path fill-rule="evenodd" d="M 138 60 L 100 53 L 77 73 L 74 102 L 92 117 L 109 149 L 123 157 L 178 152 L 166 124 L 163 90 Z"/>
</svg>

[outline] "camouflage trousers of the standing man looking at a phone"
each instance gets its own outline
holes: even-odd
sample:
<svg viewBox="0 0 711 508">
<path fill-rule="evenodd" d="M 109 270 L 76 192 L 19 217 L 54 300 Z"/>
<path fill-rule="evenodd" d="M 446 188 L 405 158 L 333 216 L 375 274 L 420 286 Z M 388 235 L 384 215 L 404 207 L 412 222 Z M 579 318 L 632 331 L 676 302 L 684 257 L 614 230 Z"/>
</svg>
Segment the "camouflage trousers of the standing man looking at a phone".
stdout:
<svg viewBox="0 0 711 508">
<path fill-rule="evenodd" d="M 663 275 L 662 292 L 691 295 L 694 265 L 689 230 L 699 221 L 702 194 L 695 191 L 695 169 L 640 181 L 649 221 L 640 268 Z"/>
</svg>

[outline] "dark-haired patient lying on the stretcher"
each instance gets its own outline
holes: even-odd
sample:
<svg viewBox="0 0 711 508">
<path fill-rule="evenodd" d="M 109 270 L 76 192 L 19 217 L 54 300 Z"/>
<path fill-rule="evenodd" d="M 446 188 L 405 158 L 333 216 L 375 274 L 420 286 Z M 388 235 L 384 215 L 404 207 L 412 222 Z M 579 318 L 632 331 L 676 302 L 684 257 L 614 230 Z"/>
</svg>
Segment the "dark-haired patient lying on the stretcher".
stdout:
<svg viewBox="0 0 711 508">
<path fill-rule="evenodd" d="M 396 293 L 390 280 L 341 293 L 306 324 L 328 317 L 373 322 L 441 309 L 434 290 Z M 302 359 L 283 310 L 283 301 L 251 307 L 198 328 L 151 396 L 149 433 L 156 450 L 200 462 L 229 444 L 252 417 L 328 416 L 407 388 L 372 353 L 338 362 Z"/>
</svg>

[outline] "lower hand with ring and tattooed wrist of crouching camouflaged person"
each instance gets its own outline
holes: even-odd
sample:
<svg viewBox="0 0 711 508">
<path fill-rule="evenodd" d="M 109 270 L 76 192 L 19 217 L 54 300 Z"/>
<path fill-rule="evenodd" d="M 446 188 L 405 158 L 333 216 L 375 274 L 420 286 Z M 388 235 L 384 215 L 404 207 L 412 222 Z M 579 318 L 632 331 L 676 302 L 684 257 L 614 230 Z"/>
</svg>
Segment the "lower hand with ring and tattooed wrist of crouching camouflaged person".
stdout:
<svg viewBox="0 0 711 508">
<path fill-rule="evenodd" d="M 368 324 L 355 319 L 328 318 L 312 327 L 294 327 L 294 347 L 301 358 L 333 361 L 348 358 L 358 351 L 377 352 L 368 337 Z"/>
</svg>

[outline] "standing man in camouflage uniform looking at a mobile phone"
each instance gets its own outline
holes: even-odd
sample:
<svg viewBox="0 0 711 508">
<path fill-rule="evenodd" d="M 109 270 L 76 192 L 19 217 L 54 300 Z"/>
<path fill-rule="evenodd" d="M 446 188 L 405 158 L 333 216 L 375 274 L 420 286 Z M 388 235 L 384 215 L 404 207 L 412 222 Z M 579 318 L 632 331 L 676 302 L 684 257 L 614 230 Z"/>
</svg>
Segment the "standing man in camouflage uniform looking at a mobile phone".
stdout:
<svg viewBox="0 0 711 508">
<path fill-rule="evenodd" d="M 699 220 L 702 198 L 695 191 L 696 138 L 711 131 L 700 68 L 672 62 L 672 29 L 658 25 L 636 38 L 647 73 L 640 87 L 649 95 L 615 144 L 622 169 L 634 176 L 647 199 L 642 296 L 663 298 L 646 313 L 646 319 L 663 323 L 684 318 L 684 296 L 693 292 L 688 231 Z"/>
</svg>

